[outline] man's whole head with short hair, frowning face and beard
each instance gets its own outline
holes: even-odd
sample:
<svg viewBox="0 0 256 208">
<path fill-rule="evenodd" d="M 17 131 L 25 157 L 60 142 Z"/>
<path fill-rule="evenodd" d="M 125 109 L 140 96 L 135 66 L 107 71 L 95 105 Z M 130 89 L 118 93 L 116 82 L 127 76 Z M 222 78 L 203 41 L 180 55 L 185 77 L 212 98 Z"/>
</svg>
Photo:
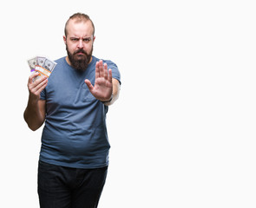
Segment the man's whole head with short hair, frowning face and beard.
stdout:
<svg viewBox="0 0 256 208">
<path fill-rule="evenodd" d="M 92 59 L 95 26 L 89 16 L 75 13 L 65 25 L 63 40 L 68 53 L 67 61 L 77 70 L 85 70 Z"/>
</svg>

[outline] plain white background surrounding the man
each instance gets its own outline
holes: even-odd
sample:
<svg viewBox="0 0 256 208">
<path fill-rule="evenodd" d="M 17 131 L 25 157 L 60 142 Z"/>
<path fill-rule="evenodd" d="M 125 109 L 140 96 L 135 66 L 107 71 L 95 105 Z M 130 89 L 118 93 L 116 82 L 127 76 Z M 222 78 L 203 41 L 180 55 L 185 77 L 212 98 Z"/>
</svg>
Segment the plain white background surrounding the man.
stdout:
<svg viewBox="0 0 256 208">
<path fill-rule="evenodd" d="M 121 71 L 99 207 L 255 207 L 254 1 L 3 1 L 0 207 L 39 207 L 42 128 L 23 120 L 27 59 L 66 55 L 64 23 L 95 23 Z"/>
</svg>

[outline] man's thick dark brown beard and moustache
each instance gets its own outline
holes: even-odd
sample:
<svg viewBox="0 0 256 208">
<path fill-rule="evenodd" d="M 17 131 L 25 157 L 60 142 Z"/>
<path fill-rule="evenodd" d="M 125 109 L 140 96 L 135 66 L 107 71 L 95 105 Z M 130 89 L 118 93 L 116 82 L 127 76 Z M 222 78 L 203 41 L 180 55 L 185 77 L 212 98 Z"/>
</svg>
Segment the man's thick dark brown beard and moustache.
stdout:
<svg viewBox="0 0 256 208">
<path fill-rule="evenodd" d="M 73 54 L 71 54 L 67 45 L 66 50 L 69 56 L 69 62 L 73 68 L 78 71 L 85 71 L 86 68 L 88 68 L 93 53 L 93 46 L 89 54 L 83 49 L 78 49 Z M 82 53 L 82 55 L 78 53 Z"/>
</svg>

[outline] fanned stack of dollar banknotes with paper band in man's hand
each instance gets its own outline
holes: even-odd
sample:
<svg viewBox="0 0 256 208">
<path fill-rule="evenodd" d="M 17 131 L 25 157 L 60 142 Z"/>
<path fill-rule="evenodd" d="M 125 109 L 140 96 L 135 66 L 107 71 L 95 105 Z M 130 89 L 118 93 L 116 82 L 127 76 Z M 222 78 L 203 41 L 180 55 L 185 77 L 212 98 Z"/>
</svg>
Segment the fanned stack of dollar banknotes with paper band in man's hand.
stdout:
<svg viewBox="0 0 256 208">
<path fill-rule="evenodd" d="M 56 62 L 50 61 L 46 57 L 36 56 L 28 60 L 30 66 L 30 72 L 38 72 L 39 75 L 36 76 L 34 81 L 40 79 L 42 76 L 47 76 L 52 73 L 53 69 L 56 67 Z"/>
</svg>

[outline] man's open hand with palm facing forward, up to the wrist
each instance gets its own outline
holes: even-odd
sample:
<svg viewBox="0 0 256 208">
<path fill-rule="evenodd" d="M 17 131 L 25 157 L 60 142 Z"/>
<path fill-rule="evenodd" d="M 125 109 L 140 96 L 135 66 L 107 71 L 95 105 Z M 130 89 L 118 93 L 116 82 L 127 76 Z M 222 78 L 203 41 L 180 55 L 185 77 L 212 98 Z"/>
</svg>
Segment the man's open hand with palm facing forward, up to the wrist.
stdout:
<svg viewBox="0 0 256 208">
<path fill-rule="evenodd" d="M 95 86 L 86 79 L 84 81 L 89 88 L 91 94 L 95 96 L 99 101 L 109 101 L 113 91 L 112 85 L 112 70 L 109 68 L 107 63 L 96 62 L 95 66 Z"/>
</svg>

